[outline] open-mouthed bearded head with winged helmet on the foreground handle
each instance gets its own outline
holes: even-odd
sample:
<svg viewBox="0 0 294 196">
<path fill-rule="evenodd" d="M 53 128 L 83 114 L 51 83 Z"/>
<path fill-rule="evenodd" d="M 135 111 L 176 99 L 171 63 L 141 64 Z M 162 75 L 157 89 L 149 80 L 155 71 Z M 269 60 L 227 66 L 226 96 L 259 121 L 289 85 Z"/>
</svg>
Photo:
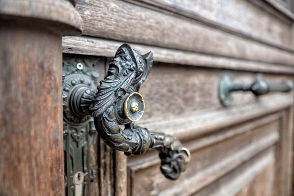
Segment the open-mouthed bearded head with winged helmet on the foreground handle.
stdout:
<svg viewBox="0 0 294 196">
<path fill-rule="evenodd" d="M 150 72 L 152 61 L 152 52 L 142 56 L 130 45 L 121 45 L 109 64 L 104 80 L 97 87 L 98 92 L 90 105 L 91 116 L 101 115 L 119 97 L 125 95 L 131 86 L 131 89 L 138 91 Z"/>
</svg>

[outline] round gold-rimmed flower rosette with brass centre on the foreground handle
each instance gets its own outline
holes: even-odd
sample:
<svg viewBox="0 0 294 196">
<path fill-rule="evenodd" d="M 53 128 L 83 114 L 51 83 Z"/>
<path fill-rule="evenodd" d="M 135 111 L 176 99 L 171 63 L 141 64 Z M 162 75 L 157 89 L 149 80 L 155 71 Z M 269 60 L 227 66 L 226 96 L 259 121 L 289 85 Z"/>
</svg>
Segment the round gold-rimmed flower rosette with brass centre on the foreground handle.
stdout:
<svg viewBox="0 0 294 196">
<path fill-rule="evenodd" d="M 123 103 L 123 112 L 126 118 L 132 122 L 140 120 L 143 116 L 144 109 L 144 99 L 138 92 L 129 94 Z"/>
</svg>

